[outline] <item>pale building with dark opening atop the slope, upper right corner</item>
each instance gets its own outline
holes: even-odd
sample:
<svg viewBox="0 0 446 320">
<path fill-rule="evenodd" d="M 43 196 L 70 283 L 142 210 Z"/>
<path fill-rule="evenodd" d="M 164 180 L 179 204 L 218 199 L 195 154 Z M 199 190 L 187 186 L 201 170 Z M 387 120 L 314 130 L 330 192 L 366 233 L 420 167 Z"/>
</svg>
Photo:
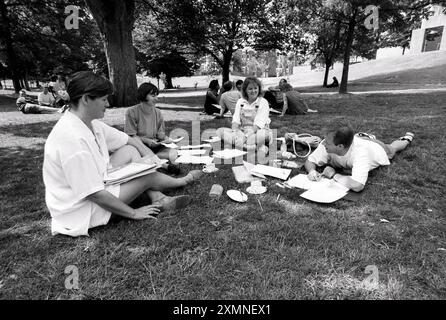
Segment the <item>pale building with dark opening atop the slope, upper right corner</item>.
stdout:
<svg viewBox="0 0 446 320">
<path fill-rule="evenodd" d="M 432 6 L 432 15 L 423 20 L 420 29 L 412 31 L 410 53 L 446 50 L 445 7 Z"/>
</svg>

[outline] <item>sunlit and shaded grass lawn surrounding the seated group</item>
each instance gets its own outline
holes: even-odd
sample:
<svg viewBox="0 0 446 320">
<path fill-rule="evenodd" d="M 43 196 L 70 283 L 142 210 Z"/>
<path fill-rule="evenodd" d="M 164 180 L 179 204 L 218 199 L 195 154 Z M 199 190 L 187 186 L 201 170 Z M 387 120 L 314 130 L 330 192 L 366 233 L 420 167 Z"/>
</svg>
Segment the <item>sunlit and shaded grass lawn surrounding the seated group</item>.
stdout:
<svg viewBox="0 0 446 320">
<path fill-rule="evenodd" d="M 186 106 L 202 103 L 192 100 Z M 279 134 L 322 135 L 338 122 L 386 142 L 414 132 L 407 150 L 370 174 L 357 202 L 311 203 L 274 179 L 245 204 L 211 199 L 214 183 L 247 187 L 225 165 L 170 192 L 194 198 L 175 215 L 119 220 L 73 239 L 51 236 L 42 182 L 45 139 L 60 115 L 22 115 L 0 97 L 0 298 L 445 299 L 445 101 L 446 93 L 313 97 L 319 114 L 273 118 Z M 109 110 L 104 121 L 122 128 L 120 115 Z M 191 131 L 187 118 L 168 120 L 168 132 Z M 203 120 L 201 129 L 225 125 Z M 65 289 L 70 265 L 79 290 Z M 375 287 L 363 284 L 370 265 Z"/>
</svg>

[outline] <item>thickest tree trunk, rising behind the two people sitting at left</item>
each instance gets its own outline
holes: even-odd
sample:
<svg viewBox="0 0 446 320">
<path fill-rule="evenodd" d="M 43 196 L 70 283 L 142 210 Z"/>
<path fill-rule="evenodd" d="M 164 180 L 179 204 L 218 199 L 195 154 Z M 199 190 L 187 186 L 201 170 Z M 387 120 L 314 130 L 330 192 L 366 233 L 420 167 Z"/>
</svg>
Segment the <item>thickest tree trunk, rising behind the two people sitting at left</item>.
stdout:
<svg viewBox="0 0 446 320">
<path fill-rule="evenodd" d="M 137 103 L 136 63 L 132 30 L 134 0 L 85 0 L 101 31 L 110 81 L 114 86 L 111 105 Z"/>
</svg>

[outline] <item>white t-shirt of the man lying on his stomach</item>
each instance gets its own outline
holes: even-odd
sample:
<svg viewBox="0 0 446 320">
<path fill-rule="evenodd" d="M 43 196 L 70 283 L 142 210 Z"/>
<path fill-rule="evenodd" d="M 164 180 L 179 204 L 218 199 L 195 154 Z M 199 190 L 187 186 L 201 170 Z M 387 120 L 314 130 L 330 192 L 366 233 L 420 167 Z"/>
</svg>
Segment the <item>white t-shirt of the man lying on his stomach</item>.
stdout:
<svg viewBox="0 0 446 320">
<path fill-rule="evenodd" d="M 370 170 L 390 164 L 386 151 L 379 144 L 358 137 L 353 138 L 353 143 L 344 156 L 328 154 L 321 143 L 308 160 L 317 166 L 328 164 L 334 168 L 352 169 L 351 178 L 363 185 Z"/>
</svg>

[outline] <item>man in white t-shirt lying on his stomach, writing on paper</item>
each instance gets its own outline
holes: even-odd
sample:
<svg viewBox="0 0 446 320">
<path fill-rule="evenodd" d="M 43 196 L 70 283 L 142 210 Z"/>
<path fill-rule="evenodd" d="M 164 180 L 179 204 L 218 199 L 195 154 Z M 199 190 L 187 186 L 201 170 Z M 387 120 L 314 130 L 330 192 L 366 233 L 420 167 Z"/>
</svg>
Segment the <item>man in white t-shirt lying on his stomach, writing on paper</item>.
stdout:
<svg viewBox="0 0 446 320">
<path fill-rule="evenodd" d="M 320 180 L 321 176 L 334 179 L 355 192 L 362 191 L 370 170 L 379 166 L 386 166 L 397 152 L 404 150 L 413 140 L 413 133 L 385 144 L 374 136 L 358 133 L 354 134 L 350 127 L 343 126 L 330 132 L 325 140 L 308 157 L 305 169 L 312 181 Z M 327 165 L 322 174 L 316 167 Z M 351 175 L 336 173 L 337 169 L 344 169 Z"/>
</svg>

